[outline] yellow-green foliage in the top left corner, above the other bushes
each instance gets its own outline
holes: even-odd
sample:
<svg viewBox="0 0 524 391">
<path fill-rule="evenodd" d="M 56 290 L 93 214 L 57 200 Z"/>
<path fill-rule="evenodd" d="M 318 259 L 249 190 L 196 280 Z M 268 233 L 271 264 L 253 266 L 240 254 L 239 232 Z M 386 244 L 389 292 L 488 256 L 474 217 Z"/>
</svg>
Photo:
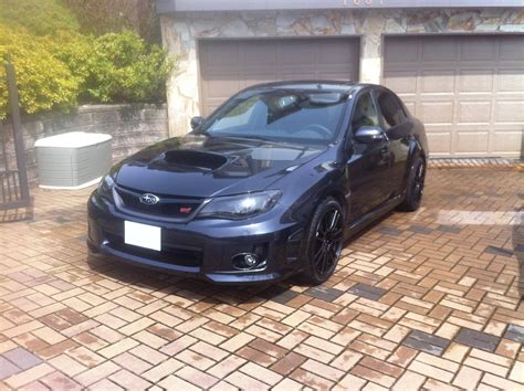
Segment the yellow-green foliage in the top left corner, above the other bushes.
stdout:
<svg viewBox="0 0 524 391">
<path fill-rule="evenodd" d="M 80 29 L 74 14 L 59 0 L 0 0 L 0 24 L 11 30 L 24 28 L 35 35 Z"/>
</svg>

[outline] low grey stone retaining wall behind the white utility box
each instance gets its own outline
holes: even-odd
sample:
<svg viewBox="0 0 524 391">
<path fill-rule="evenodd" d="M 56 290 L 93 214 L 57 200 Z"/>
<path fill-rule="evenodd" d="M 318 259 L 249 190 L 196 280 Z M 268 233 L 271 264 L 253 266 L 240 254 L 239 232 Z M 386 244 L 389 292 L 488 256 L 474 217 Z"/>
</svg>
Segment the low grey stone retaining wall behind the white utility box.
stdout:
<svg viewBox="0 0 524 391">
<path fill-rule="evenodd" d="M 31 183 L 38 182 L 38 161 L 34 142 L 43 137 L 67 131 L 104 133 L 113 136 L 113 161 L 156 141 L 169 137 L 166 105 L 86 105 L 71 114 L 45 114 L 23 118 L 23 139 Z M 17 167 L 10 123 L 4 121 L 0 142 L 6 146 L 10 169 Z M 3 148 L 0 148 L 0 170 L 4 168 Z"/>
</svg>

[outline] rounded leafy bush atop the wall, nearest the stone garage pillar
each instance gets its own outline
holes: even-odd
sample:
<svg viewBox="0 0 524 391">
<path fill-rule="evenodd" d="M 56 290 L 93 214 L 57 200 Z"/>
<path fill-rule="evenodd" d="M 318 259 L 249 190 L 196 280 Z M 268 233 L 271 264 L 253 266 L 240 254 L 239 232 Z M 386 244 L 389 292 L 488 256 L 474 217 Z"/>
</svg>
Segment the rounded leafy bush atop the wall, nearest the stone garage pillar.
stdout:
<svg viewBox="0 0 524 391">
<path fill-rule="evenodd" d="M 134 32 L 102 36 L 59 34 L 49 40 L 56 59 L 80 80 L 81 103 L 159 103 L 172 62 Z"/>
</svg>

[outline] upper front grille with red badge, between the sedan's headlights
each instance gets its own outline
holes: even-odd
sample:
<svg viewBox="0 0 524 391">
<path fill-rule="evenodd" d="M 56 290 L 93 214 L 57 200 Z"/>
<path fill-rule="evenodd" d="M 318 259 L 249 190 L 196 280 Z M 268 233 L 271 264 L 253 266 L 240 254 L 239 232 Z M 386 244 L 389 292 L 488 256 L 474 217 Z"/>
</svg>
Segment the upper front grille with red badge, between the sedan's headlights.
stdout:
<svg viewBox="0 0 524 391">
<path fill-rule="evenodd" d="M 158 196 L 158 203 L 150 205 L 140 202 L 144 192 L 137 192 L 117 187 L 116 192 L 122 201 L 122 207 L 129 211 L 158 215 L 171 219 L 188 219 L 202 203 L 201 199 L 177 198 L 171 196 Z"/>
</svg>

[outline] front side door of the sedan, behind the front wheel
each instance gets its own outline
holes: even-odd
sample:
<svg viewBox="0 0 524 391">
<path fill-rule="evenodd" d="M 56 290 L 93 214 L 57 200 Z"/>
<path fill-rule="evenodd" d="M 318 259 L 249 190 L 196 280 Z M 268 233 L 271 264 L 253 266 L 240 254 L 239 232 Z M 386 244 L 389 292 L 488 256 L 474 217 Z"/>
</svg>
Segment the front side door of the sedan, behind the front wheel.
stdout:
<svg viewBox="0 0 524 391">
<path fill-rule="evenodd" d="M 347 176 L 350 187 L 349 220 L 355 221 L 387 200 L 389 192 L 389 141 L 365 144 L 354 138 L 363 126 L 378 127 L 376 102 L 371 89 L 360 92 L 355 99 L 349 120 Z"/>
</svg>

